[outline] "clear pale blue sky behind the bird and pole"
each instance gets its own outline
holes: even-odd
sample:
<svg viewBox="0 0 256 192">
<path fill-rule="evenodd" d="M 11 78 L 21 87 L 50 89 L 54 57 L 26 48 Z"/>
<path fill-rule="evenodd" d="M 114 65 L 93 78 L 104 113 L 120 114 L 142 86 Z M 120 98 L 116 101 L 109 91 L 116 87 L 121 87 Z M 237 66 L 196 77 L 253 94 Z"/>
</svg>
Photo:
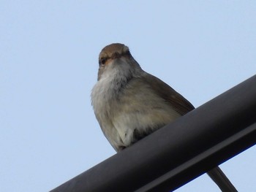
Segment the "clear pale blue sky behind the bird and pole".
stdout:
<svg viewBox="0 0 256 192">
<path fill-rule="evenodd" d="M 91 107 L 98 55 L 129 46 L 199 107 L 256 72 L 256 1 L 0 1 L 0 191 L 50 191 L 114 155 Z M 255 147 L 221 165 L 255 191 Z M 206 174 L 177 190 L 219 191 Z"/>
</svg>

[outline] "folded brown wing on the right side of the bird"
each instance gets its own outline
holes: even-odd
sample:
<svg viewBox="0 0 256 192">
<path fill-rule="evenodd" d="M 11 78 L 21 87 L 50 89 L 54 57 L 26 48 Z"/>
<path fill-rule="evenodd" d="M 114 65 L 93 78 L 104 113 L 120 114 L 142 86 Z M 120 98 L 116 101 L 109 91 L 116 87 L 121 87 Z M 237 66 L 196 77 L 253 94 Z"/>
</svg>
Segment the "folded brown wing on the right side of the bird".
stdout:
<svg viewBox="0 0 256 192">
<path fill-rule="evenodd" d="M 157 77 L 154 77 L 151 74 L 146 74 L 146 76 L 142 78 L 148 82 L 148 85 L 150 85 L 159 96 L 169 102 L 170 106 L 172 106 L 179 114 L 184 115 L 195 109 L 187 99 Z"/>
</svg>

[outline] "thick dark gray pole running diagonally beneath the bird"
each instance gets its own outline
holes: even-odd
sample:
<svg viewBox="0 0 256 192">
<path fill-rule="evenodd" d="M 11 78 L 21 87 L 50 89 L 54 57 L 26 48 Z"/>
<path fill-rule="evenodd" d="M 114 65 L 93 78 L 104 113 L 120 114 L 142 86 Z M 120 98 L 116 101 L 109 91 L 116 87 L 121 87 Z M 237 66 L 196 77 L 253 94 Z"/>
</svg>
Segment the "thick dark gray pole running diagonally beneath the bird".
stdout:
<svg viewBox="0 0 256 192">
<path fill-rule="evenodd" d="M 256 75 L 52 192 L 173 191 L 256 143 Z"/>
</svg>

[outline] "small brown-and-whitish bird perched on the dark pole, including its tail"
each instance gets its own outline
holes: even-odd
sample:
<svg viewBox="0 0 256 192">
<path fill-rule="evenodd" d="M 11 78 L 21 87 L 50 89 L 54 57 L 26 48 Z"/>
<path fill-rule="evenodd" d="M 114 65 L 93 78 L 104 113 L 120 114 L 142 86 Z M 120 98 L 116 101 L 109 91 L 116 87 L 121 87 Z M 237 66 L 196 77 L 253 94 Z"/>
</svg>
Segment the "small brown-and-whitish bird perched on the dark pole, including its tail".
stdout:
<svg viewBox="0 0 256 192">
<path fill-rule="evenodd" d="M 107 45 L 99 53 L 91 105 L 117 153 L 195 109 L 165 82 L 143 71 L 121 43 Z M 208 175 L 222 191 L 236 191 L 219 166 Z"/>
</svg>

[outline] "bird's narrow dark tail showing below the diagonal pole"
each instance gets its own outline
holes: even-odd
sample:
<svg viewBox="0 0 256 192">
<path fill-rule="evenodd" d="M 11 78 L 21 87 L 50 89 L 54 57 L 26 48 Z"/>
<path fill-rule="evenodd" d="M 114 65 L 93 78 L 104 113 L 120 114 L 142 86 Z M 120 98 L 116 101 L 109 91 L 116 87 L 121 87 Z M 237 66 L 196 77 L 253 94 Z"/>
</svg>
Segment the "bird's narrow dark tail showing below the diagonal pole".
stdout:
<svg viewBox="0 0 256 192">
<path fill-rule="evenodd" d="M 208 176 L 219 186 L 222 192 L 237 192 L 234 185 L 227 179 L 227 176 L 222 172 L 219 166 L 207 172 Z"/>
</svg>

